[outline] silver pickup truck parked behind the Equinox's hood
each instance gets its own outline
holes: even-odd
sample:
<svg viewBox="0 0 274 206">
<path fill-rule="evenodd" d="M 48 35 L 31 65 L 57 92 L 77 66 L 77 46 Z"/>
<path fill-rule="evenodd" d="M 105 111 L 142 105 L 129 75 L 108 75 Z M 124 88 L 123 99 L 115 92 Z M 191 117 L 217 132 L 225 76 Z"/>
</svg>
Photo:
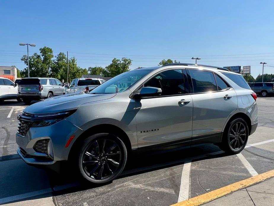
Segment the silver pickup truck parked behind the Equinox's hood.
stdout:
<svg viewBox="0 0 274 206">
<path fill-rule="evenodd" d="M 76 78 L 71 81 L 71 83 L 64 91 L 64 94 L 78 93 L 83 91 L 89 91 L 92 88 L 104 83 L 105 80 L 98 78 Z"/>
</svg>

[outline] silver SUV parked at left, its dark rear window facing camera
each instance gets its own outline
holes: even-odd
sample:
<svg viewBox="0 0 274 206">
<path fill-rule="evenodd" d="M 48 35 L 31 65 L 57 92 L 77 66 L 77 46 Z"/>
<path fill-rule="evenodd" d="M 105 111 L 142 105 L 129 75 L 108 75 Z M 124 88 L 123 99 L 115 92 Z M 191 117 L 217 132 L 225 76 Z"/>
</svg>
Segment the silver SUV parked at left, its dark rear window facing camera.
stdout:
<svg viewBox="0 0 274 206">
<path fill-rule="evenodd" d="M 64 90 L 63 84 L 55 78 L 23 78 L 18 86 L 18 97 L 22 98 L 25 104 L 30 104 L 32 100 L 62 95 Z"/>
</svg>

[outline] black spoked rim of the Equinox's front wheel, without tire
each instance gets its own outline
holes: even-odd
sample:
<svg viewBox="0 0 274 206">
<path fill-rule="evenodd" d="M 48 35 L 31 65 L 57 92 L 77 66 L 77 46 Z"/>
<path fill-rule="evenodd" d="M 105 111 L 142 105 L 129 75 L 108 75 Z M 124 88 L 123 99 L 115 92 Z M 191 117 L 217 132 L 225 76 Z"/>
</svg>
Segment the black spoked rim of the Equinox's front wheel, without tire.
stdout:
<svg viewBox="0 0 274 206">
<path fill-rule="evenodd" d="M 90 178 L 102 180 L 116 172 L 121 162 L 121 149 L 110 139 L 99 139 L 87 147 L 82 167 Z"/>
</svg>

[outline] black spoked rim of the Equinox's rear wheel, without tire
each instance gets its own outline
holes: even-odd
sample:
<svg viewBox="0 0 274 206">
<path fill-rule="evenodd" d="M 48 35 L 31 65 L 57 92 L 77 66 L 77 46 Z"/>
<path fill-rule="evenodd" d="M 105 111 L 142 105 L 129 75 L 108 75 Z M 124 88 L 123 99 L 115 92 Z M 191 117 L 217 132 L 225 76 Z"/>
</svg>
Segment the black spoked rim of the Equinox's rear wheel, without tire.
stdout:
<svg viewBox="0 0 274 206">
<path fill-rule="evenodd" d="M 245 144 L 246 137 L 246 127 L 244 124 L 241 122 L 234 123 L 229 131 L 230 146 L 235 150 L 240 149 Z"/>
</svg>

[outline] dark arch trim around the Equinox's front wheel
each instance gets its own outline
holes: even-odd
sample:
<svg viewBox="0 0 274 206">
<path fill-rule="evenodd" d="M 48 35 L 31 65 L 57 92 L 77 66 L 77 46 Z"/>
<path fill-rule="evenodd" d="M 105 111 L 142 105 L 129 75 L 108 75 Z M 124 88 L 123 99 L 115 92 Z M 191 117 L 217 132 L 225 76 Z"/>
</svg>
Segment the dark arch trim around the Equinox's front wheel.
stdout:
<svg viewBox="0 0 274 206">
<path fill-rule="evenodd" d="M 83 142 L 83 140 L 85 138 L 87 138 L 93 134 L 97 134 L 97 133 L 116 134 L 124 142 L 128 156 L 131 154 L 131 151 L 132 151 L 131 142 L 129 140 L 128 135 L 126 134 L 126 132 L 123 129 L 121 129 L 120 127 L 118 127 L 116 125 L 112 125 L 112 124 L 99 124 L 99 125 L 92 126 L 89 129 L 85 130 L 82 134 L 80 134 L 80 136 L 75 140 L 75 142 L 73 142 L 73 145 L 71 146 L 69 154 L 68 154 L 68 160 L 70 160 L 72 158 L 71 155 L 77 151 L 77 148 L 80 147 L 81 142 Z"/>
</svg>

